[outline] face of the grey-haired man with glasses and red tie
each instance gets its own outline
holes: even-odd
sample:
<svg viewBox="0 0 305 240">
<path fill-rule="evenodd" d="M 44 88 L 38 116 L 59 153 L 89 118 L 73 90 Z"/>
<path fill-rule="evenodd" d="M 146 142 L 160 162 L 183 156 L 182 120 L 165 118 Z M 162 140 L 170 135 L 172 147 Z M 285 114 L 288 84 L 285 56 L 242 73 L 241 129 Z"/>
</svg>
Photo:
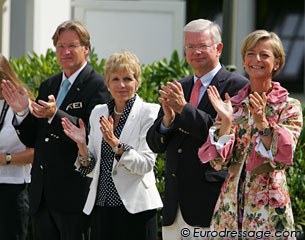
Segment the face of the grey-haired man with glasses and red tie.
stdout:
<svg viewBox="0 0 305 240">
<path fill-rule="evenodd" d="M 211 71 L 219 63 L 222 44 L 213 41 L 210 30 L 185 32 L 184 49 L 188 64 L 198 77 Z"/>
</svg>

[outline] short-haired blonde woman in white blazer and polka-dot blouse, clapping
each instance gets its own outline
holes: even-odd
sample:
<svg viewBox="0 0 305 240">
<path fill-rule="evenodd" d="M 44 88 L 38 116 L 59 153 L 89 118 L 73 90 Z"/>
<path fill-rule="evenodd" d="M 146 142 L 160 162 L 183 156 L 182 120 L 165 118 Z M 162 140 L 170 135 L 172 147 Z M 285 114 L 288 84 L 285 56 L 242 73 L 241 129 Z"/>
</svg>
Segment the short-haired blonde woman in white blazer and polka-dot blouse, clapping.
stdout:
<svg viewBox="0 0 305 240">
<path fill-rule="evenodd" d="M 159 105 L 145 103 L 136 94 L 141 84 L 138 58 L 114 53 L 105 65 L 105 79 L 113 100 L 97 105 L 90 116 L 89 142 L 79 127 L 63 118 L 65 133 L 79 148 L 77 169 L 92 177 L 84 206 L 92 214 L 94 240 L 156 240 L 157 208 L 162 201 L 156 188 L 156 155 L 146 142 Z"/>
</svg>

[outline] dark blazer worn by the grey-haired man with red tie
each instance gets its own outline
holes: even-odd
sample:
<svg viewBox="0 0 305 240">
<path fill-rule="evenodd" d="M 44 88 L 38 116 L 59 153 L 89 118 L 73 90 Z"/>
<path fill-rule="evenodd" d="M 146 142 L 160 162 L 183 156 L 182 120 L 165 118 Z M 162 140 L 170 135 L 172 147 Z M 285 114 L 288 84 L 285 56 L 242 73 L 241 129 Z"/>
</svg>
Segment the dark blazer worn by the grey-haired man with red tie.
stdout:
<svg viewBox="0 0 305 240">
<path fill-rule="evenodd" d="M 194 78 L 186 77 L 179 82 L 188 102 Z M 210 85 L 215 85 L 224 99 L 226 92 L 230 96 L 236 95 L 246 83 L 248 81 L 245 77 L 222 67 Z M 159 131 L 163 115 L 161 109 L 147 134 L 148 145 L 154 152 L 166 152 L 163 225 L 168 226 L 174 222 L 179 204 L 186 223 L 209 227 L 227 173 L 216 172 L 209 163 L 202 164 L 197 152 L 207 139 L 216 111 L 205 93 L 197 108 L 187 103 L 182 113 L 176 114 L 171 130 L 166 134 Z"/>
</svg>

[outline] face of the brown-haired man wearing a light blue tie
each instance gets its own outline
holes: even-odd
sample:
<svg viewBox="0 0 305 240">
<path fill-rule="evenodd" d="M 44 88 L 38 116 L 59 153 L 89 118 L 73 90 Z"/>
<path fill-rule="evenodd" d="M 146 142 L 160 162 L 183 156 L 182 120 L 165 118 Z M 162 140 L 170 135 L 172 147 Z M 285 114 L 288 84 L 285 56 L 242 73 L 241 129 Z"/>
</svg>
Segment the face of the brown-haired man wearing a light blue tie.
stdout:
<svg viewBox="0 0 305 240">
<path fill-rule="evenodd" d="M 56 43 L 56 55 L 66 77 L 70 77 L 86 62 L 89 47 L 82 46 L 74 30 L 64 30 Z"/>
</svg>

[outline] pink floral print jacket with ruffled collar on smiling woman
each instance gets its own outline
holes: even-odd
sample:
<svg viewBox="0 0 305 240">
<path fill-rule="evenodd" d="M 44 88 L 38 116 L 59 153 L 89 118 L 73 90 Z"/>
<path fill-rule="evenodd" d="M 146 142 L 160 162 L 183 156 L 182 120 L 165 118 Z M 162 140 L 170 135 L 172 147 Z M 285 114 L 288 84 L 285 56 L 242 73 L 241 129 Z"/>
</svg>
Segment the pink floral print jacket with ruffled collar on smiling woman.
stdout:
<svg viewBox="0 0 305 240">
<path fill-rule="evenodd" d="M 203 163 L 229 172 L 215 206 L 211 230 L 294 230 L 285 169 L 292 164 L 302 129 L 302 108 L 279 83 L 272 83 L 265 113 L 274 130 L 271 149 L 266 151 L 247 108 L 249 88 L 248 84 L 231 99 L 232 134 L 219 138 L 217 119 L 198 152 Z"/>
</svg>

